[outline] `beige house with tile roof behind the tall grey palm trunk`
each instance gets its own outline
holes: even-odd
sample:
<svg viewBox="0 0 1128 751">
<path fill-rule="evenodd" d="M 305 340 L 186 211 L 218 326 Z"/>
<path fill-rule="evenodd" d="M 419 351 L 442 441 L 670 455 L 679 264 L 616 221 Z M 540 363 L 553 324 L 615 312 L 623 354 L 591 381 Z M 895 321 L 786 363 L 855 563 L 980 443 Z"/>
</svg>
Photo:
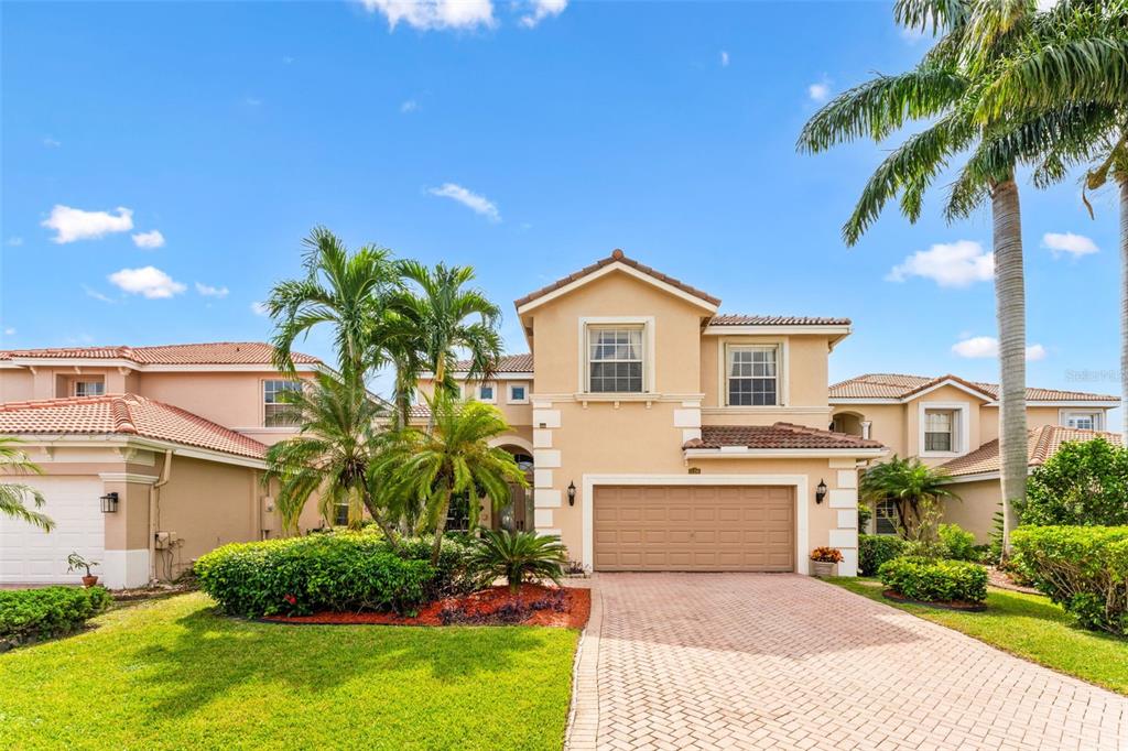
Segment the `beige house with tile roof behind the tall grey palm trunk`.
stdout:
<svg viewBox="0 0 1128 751">
<path fill-rule="evenodd" d="M 998 386 L 955 376 L 858 376 L 830 387 L 832 430 L 871 438 L 901 457 L 938 466 L 959 485 L 962 501 L 945 502 L 944 516 L 985 541 L 999 510 Z M 1026 389 L 1030 466 L 1039 466 L 1066 441 L 1102 435 L 1119 398 L 1084 391 Z M 872 530 L 896 533 L 893 502 L 873 510 Z"/>
</svg>

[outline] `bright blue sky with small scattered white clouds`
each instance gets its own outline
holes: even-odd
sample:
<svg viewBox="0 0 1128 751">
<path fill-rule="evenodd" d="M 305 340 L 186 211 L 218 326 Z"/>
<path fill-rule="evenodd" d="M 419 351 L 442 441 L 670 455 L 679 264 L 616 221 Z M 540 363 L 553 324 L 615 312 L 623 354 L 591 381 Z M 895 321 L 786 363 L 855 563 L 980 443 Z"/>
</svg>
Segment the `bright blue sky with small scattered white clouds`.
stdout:
<svg viewBox="0 0 1128 751">
<path fill-rule="evenodd" d="M 926 48 L 888 5 L 5 2 L 0 24 L 0 346 L 263 339 L 254 303 L 321 223 L 473 264 L 514 351 L 513 299 L 622 247 L 729 312 L 852 317 L 835 380 L 997 378 L 989 213 L 946 226 L 937 194 L 847 249 L 882 149 L 794 149 L 827 96 Z M 1075 180 L 1023 187 L 1029 382 L 1116 391 L 1113 196 L 1091 221 Z"/>
</svg>

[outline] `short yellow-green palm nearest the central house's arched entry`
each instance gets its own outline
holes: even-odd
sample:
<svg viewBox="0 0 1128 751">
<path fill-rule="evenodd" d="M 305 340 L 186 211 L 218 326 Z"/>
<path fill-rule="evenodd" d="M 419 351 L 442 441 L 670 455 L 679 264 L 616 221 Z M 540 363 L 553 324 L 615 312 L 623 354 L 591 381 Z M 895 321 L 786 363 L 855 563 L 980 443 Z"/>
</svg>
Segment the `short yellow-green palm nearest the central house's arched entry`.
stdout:
<svg viewBox="0 0 1128 751">
<path fill-rule="evenodd" d="M 451 497 L 470 497 L 470 525 L 477 524 L 476 498 L 490 498 L 494 509 L 510 500 L 510 484 L 528 483 L 512 454 L 490 445 L 510 428 L 496 407 L 479 401 L 457 403 L 438 391 L 428 400 L 433 430 L 398 431 L 377 460 L 376 474 L 389 496 L 416 502 L 434 529 L 431 563 L 439 560 Z"/>
</svg>

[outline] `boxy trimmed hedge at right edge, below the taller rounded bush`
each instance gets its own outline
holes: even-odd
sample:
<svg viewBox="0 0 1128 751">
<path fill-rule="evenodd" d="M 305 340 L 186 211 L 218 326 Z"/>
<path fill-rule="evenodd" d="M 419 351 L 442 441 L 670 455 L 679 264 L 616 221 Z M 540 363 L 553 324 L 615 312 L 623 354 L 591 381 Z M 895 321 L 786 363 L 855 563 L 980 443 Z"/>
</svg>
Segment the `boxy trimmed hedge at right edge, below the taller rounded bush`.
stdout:
<svg viewBox="0 0 1128 751">
<path fill-rule="evenodd" d="M 1128 635 L 1128 527 L 1020 527 L 1015 564 L 1085 628 Z"/>
</svg>

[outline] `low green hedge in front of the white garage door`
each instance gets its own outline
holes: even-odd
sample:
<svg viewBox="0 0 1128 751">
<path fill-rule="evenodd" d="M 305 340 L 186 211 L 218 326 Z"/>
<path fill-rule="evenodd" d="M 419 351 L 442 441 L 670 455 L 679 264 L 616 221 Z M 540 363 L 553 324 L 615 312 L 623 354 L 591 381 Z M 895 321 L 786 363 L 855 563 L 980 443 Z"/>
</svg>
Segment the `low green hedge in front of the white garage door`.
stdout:
<svg viewBox="0 0 1128 751">
<path fill-rule="evenodd" d="M 109 606 L 100 586 L 47 586 L 0 591 L 0 640 L 25 642 L 69 634 Z"/>
</svg>

